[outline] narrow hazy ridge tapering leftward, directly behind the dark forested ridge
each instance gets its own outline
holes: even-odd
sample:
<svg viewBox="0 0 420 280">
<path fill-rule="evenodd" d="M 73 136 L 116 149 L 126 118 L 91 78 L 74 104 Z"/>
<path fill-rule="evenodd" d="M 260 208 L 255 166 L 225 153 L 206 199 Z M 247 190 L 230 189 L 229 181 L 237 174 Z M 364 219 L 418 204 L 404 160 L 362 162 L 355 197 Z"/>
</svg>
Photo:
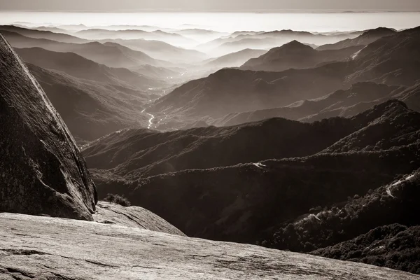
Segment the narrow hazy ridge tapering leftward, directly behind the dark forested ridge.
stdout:
<svg viewBox="0 0 420 280">
<path fill-rule="evenodd" d="M 212 124 L 239 125 L 267 118 L 288 118 L 312 122 L 336 116 L 355 116 L 387 99 L 400 99 L 409 109 L 420 111 L 419 85 L 413 87 L 388 86 L 372 82 L 356 83 L 348 90 L 337 90 L 324 97 L 295 102 L 288 106 L 243 113 L 229 113 Z"/>
</svg>

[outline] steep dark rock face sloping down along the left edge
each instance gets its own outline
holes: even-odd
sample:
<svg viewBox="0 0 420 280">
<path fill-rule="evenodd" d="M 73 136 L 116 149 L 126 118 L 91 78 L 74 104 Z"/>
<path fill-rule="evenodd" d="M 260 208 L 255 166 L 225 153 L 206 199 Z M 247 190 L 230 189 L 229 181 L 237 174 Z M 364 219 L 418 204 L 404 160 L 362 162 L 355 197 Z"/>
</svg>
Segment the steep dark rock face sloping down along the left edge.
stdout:
<svg viewBox="0 0 420 280">
<path fill-rule="evenodd" d="M 0 211 L 92 220 L 85 160 L 25 64 L 0 35 Z"/>
</svg>

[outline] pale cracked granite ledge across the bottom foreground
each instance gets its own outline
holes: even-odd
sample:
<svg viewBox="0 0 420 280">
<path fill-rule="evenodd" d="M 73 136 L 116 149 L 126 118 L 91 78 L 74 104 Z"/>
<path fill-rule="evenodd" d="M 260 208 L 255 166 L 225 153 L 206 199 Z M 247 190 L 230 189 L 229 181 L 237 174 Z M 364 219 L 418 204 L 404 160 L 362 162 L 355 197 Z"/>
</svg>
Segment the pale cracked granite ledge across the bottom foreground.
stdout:
<svg viewBox="0 0 420 280">
<path fill-rule="evenodd" d="M 123 225 L 0 214 L 0 279 L 419 279 L 356 262 Z"/>
</svg>

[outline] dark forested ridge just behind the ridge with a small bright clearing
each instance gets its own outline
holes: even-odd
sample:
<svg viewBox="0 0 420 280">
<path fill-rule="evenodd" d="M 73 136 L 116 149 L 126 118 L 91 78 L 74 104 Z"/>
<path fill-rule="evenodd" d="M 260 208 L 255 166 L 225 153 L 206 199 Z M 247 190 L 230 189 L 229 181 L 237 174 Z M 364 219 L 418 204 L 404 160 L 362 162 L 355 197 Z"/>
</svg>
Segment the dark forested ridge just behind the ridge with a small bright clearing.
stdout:
<svg viewBox="0 0 420 280">
<path fill-rule="evenodd" d="M 113 169 L 116 175 L 130 179 L 269 158 L 302 157 L 339 145 L 341 139 L 353 137 L 358 131 L 363 133 L 373 120 L 388 120 L 395 112 L 402 113 L 400 123 L 409 120 L 409 117 L 403 117 L 407 114 L 418 118 L 418 113 L 409 111 L 399 102 L 386 105 L 381 104 L 350 119 L 331 118 L 311 124 L 273 118 L 232 127 L 176 132 L 125 130 L 88 144 L 83 153 L 90 168 Z M 412 127 L 412 131 L 416 128 Z M 401 130 L 395 128 L 395 131 Z"/>
</svg>

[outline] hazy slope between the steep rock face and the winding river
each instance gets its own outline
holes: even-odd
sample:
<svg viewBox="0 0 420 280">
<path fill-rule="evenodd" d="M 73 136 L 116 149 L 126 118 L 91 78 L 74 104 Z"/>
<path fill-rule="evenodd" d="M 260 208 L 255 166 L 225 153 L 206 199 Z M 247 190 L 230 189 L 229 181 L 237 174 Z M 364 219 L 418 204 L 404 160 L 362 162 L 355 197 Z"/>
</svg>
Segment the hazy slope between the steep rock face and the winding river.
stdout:
<svg viewBox="0 0 420 280">
<path fill-rule="evenodd" d="M 85 144 L 86 141 L 116 130 L 141 127 L 147 123 L 141 108 L 153 97 L 135 87 L 80 79 L 31 64 L 29 70 L 45 90 L 78 144 Z"/>
</svg>

